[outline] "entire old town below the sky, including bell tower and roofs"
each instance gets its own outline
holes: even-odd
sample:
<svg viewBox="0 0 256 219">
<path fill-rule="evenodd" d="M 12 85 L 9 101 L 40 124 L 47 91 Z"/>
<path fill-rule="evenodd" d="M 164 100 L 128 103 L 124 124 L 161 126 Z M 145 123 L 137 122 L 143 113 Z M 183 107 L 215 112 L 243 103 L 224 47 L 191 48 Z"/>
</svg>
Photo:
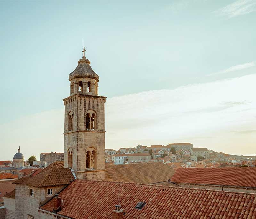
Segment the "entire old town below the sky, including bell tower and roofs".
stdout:
<svg viewBox="0 0 256 219">
<path fill-rule="evenodd" d="M 255 156 L 192 143 L 105 149 L 105 96 L 83 56 L 63 99 L 64 152 L 0 161 L 0 219 L 256 217 Z"/>
</svg>

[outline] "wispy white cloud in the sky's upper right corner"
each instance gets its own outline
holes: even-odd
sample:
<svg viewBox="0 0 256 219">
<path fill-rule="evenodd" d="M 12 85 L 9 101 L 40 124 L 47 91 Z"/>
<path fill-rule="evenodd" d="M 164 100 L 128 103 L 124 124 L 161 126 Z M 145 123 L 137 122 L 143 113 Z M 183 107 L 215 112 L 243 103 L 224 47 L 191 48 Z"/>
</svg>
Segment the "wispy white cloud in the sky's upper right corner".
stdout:
<svg viewBox="0 0 256 219">
<path fill-rule="evenodd" d="M 255 0 L 238 0 L 232 4 L 214 11 L 217 16 L 234 18 L 236 16 L 249 14 L 256 11 Z"/>
</svg>

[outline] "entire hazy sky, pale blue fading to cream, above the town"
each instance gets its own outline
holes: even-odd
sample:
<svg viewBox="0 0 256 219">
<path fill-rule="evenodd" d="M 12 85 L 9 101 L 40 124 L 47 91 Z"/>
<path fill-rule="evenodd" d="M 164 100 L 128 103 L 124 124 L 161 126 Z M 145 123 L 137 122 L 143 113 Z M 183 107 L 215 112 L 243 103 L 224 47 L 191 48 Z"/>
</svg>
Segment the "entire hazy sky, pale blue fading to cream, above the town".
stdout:
<svg viewBox="0 0 256 219">
<path fill-rule="evenodd" d="M 106 148 L 256 153 L 256 0 L 1 1 L 0 19 L 0 160 L 63 151 L 82 37 Z"/>
</svg>

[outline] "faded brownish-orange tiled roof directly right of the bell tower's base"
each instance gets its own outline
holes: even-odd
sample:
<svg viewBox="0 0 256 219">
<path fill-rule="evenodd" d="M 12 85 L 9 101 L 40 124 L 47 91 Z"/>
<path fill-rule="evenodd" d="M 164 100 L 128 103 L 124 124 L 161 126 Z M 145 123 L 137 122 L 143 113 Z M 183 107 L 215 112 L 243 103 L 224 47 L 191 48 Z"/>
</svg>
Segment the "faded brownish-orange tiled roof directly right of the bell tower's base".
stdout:
<svg viewBox="0 0 256 219">
<path fill-rule="evenodd" d="M 153 184 L 171 179 L 174 170 L 163 163 L 106 165 L 106 181 Z"/>
</svg>

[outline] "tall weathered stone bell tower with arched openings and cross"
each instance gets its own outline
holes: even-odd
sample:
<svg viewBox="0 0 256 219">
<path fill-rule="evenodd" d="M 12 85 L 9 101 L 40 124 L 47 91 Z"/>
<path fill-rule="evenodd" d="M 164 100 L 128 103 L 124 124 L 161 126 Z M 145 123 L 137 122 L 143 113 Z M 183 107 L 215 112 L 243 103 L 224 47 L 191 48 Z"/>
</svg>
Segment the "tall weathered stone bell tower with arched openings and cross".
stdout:
<svg viewBox="0 0 256 219">
<path fill-rule="evenodd" d="M 105 180 L 106 97 L 98 96 L 99 76 L 85 57 L 69 74 L 70 96 L 65 105 L 64 167 L 78 179 Z"/>
</svg>

